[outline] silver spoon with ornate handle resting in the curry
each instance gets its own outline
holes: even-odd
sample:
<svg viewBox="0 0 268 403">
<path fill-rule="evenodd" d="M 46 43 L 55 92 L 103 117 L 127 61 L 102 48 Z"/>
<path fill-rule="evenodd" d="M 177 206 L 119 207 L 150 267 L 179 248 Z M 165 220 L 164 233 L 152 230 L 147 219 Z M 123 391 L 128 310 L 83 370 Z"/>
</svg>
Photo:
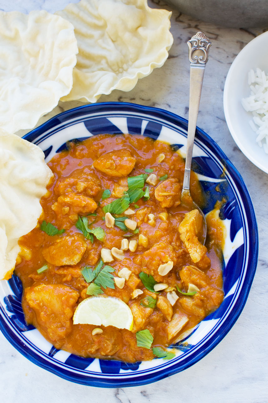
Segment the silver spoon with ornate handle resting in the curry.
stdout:
<svg viewBox="0 0 268 403">
<path fill-rule="evenodd" d="M 209 58 L 209 48 L 211 42 L 203 32 L 197 32 L 188 42 L 189 60 L 190 60 L 190 100 L 189 100 L 189 117 L 188 117 L 188 134 L 186 145 L 186 160 L 184 179 L 182 187 L 182 205 L 187 210 L 197 209 L 203 217 L 203 235 L 200 242 L 205 243 L 207 236 L 207 223 L 203 211 L 193 202 L 190 196 L 190 172 L 192 162 L 192 149 L 194 146 L 194 135 L 196 129 L 196 121 L 199 110 L 200 96 L 203 84 L 205 66 Z"/>
</svg>

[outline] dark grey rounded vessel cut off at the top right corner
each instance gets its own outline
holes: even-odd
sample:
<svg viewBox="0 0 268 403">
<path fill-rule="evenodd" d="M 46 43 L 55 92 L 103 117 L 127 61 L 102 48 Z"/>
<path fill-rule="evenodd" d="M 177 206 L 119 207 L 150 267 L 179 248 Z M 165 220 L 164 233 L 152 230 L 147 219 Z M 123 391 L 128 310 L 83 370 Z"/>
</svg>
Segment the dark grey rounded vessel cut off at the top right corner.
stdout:
<svg viewBox="0 0 268 403">
<path fill-rule="evenodd" d="M 229 28 L 268 27 L 268 0 L 167 0 L 184 14 Z"/>
</svg>

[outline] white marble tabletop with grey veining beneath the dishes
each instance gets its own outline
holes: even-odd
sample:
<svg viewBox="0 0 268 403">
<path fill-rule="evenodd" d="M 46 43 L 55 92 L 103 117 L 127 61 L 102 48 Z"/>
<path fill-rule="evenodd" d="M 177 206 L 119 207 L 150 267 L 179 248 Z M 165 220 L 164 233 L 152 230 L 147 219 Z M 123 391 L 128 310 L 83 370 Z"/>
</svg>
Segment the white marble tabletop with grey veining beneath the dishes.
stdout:
<svg viewBox="0 0 268 403">
<path fill-rule="evenodd" d="M 215 0 L 216 1 L 216 0 Z M 0 9 L 29 12 L 55 11 L 68 0 L 0 0 Z M 0 333 L 0 402 L 268 402 L 268 175 L 256 168 L 237 148 L 225 123 L 223 87 L 237 53 L 259 29 L 224 29 L 202 23 L 155 0 L 152 6 L 173 11 L 171 31 L 174 45 L 161 69 L 141 79 L 130 92 L 114 91 L 104 101 L 127 101 L 157 106 L 187 118 L 189 62 L 186 42 L 201 30 L 213 42 L 200 104 L 198 126 L 222 148 L 241 172 L 254 204 L 260 237 L 256 276 L 245 308 L 227 336 L 205 358 L 184 372 L 154 384 L 119 389 L 101 389 L 73 384 L 32 364 Z M 60 103 L 49 117 L 80 102 Z"/>
</svg>

